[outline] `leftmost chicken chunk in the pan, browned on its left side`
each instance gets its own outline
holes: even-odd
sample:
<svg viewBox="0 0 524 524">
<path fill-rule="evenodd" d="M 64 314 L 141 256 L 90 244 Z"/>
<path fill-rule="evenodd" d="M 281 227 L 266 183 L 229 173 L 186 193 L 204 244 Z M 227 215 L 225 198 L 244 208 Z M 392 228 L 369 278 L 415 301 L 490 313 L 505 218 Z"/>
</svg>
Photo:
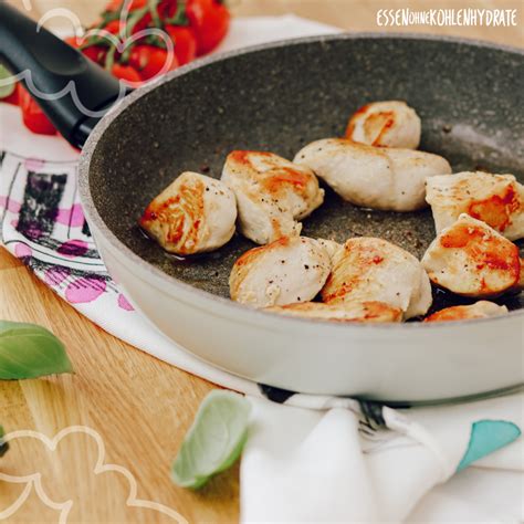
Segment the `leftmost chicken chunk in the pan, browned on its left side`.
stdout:
<svg viewBox="0 0 524 524">
<path fill-rule="evenodd" d="M 166 251 L 189 255 L 229 242 L 235 220 L 234 195 L 226 184 L 186 171 L 149 203 L 139 223 Z"/>
</svg>

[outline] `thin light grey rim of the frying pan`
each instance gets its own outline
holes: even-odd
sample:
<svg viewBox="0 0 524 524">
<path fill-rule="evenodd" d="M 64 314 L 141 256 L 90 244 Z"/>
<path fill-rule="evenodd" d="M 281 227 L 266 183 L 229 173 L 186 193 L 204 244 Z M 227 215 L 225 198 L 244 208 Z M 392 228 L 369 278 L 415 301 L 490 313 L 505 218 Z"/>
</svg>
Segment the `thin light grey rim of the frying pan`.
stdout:
<svg viewBox="0 0 524 524">
<path fill-rule="evenodd" d="M 165 292 L 168 292 L 169 295 L 176 296 L 176 292 L 185 291 L 188 294 L 192 294 L 195 297 L 199 297 L 203 301 L 209 308 L 216 306 L 221 307 L 222 313 L 226 314 L 228 311 L 231 315 L 245 316 L 245 319 L 251 319 L 251 322 L 272 322 L 281 324 L 282 326 L 331 326 L 331 329 L 345 329 L 346 333 L 349 329 L 358 331 L 363 333 L 365 331 L 379 329 L 380 332 L 387 331 L 389 333 L 409 333 L 412 329 L 444 329 L 453 328 L 460 329 L 464 326 L 474 326 L 485 323 L 495 323 L 501 321 L 509 321 L 511 318 L 523 318 L 524 310 L 512 311 L 505 315 L 488 318 L 472 318 L 468 321 L 453 321 L 453 322 L 436 322 L 436 323 L 422 323 L 422 322 L 410 322 L 410 323 L 338 323 L 328 319 L 318 319 L 318 318 L 303 318 L 295 317 L 291 315 L 283 315 L 273 312 L 266 312 L 263 310 L 256 310 L 238 302 L 234 302 L 230 298 L 224 298 L 219 295 L 214 295 L 208 291 L 200 290 L 195 287 L 175 276 L 171 276 L 164 271 L 156 268 L 154 264 L 147 262 L 138 254 L 136 254 L 132 249 L 129 249 L 123 241 L 120 241 L 116 234 L 109 229 L 105 223 L 98 210 L 95 206 L 95 202 L 91 195 L 91 185 L 90 185 L 90 171 L 91 171 L 91 160 L 97 148 L 99 140 L 103 138 L 104 133 L 109 128 L 114 120 L 134 102 L 138 98 L 145 96 L 150 91 L 157 88 L 165 83 L 171 82 L 172 80 L 189 74 L 190 72 L 198 70 L 200 67 L 206 67 L 208 65 L 222 62 L 235 56 L 241 56 L 245 54 L 256 53 L 259 51 L 279 49 L 291 45 L 300 45 L 304 43 L 322 43 L 329 41 L 338 40 L 419 40 L 419 41 L 432 41 L 432 42 L 449 42 L 464 45 L 472 45 L 476 48 L 488 48 L 492 50 L 499 50 L 524 56 L 524 48 L 515 48 L 505 44 L 499 44 L 494 42 L 476 40 L 476 39 L 465 39 L 458 36 L 449 35 L 437 35 L 437 34 L 418 34 L 418 33 L 384 33 L 384 32 L 340 32 L 335 34 L 323 34 L 316 36 L 303 36 L 295 39 L 279 40 L 276 42 L 270 42 L 264 44 L 251 45 L 242 48 L 239 50 L 233 50 L 229 52 L 218 53 L 216 55 L 207 56 L 199 59 L 190 64 L 187 64 L 178 70 L 175 70 L 167 75 L 153 81 L 151 83 L 135 90 L 133 93 L 127 95 L 122 99 L 116 106 L 102 118 L 102 120 L 96 125 L 94 130 L 88 136 L 84 148 L 81 154 L 78 163 L 78 190 L 80 197 L 83 205 L 83 209 L 90 222 L 92 222 L 97 231 L 103 235 L 104 240 L 108 242 L 112 248 L 115 248 L 122 255 L 122 260 L 125 260 L 126 263 L 129 262 L 129 265 L 136 265 L 143 271 L 146 271 L 150 277 L 154 279 L 157 285 L 161 284 L 161 289 Z M 122 262 L 120 262 L 122 263 Z M 167 287 L 166 287 L 167 286 Z M 291 324 L 294 323 L 294 324 Z M 327 328 L 327 327 L 326 327 Z"/>
</svg>

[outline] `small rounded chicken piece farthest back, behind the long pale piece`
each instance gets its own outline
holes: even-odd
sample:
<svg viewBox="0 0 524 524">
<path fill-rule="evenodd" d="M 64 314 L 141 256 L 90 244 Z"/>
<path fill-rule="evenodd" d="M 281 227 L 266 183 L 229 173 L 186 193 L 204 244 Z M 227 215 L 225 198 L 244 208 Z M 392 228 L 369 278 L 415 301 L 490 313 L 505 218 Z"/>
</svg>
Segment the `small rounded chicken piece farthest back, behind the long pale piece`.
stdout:
<svg viewBox="0 0 524 524">
<path fill-rule="evenodd" d="M 421 124 L 406 102 L 374 102 L 360 107 L 349 119 L 346 138 L 368 146 L 417 149 Z"/>
</svg>

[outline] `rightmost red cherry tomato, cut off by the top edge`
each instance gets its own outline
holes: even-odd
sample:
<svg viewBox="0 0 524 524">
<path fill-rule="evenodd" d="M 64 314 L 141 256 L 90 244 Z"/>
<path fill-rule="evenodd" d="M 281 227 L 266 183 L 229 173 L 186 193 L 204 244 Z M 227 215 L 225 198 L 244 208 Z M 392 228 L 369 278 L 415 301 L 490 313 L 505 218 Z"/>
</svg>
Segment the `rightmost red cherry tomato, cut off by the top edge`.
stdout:
<svg viewBox="0 0 524 524">
<path fill-rule="evenodd" d="M 199 55 L 212 51 L 228 32 L 231 14 L 222 0 L 188 0 L 186 14 L 197 36 Z"/>
</svg>

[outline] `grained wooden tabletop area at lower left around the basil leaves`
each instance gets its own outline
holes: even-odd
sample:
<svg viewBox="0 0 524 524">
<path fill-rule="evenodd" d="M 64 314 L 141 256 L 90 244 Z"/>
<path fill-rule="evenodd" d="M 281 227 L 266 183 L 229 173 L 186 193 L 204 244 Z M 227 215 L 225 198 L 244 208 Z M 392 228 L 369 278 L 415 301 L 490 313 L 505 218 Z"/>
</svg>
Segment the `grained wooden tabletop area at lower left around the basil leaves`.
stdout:
<svg viewBox="0 0 524 524">
<path fill-rule="evenodd" d="M 128 469 L 138 496 L 165 504 L 190 522 L 231 522 L 238 514 L 238 474 L 233 470 L 199 494 L 176 488 L 169 467 L 202 397 L 212 385 L 164 364 L 104 333 L 39 282 L 23 265 L 0 252 L 0 317 L 34 322 L 65 344 L 75 374 L 0 384 L 0 421 L 7 432 L 32 429 L 53 437 L 73 425 L 93 428 L 106 447 L 105 460 Z M 76 492 L 74 521 L 168 522 L 163 515 L 127 507 L 122 475 L 93 475 L 92 439 L 70 437 L 60 452 L 34 439 L 15 442 L 1 472 L 49 479 L 49 496 L 67 500 Z M 55 457 L 56 455 L 56 457 Z M 105 478 L 109 476 L 109 478 Z M 0 512 L 20 486 L 0 482 Z M 73 493 L 69 488 L 74 486 Z M 38 499 L 36 499 L 38 501 Z M 17 512 L 18 522 L 42 522 L 41 504 Z M 147 513 L 147 512 L 146 512 Z M 56 521 L 56 515 L 53 518 Z M 170 520 L 169 520 L 170 521 Z"/>
</svg>

